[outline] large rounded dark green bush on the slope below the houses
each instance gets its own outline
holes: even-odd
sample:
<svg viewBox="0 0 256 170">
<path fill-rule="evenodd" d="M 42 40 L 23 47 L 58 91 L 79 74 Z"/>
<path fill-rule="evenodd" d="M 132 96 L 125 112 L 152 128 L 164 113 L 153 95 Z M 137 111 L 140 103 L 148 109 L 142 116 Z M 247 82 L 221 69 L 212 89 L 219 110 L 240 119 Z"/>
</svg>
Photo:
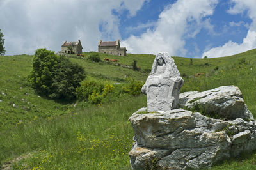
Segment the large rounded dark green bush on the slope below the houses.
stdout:
<svg viewBox="0 0 256 170">
<path fill-rule="evenodd" d="M 82 66 L 46 49 L 36 50 L 32 65 L 32 86 L 51 98 L 75 98 L 79 82 L 86 77 Z"/>
</svg>

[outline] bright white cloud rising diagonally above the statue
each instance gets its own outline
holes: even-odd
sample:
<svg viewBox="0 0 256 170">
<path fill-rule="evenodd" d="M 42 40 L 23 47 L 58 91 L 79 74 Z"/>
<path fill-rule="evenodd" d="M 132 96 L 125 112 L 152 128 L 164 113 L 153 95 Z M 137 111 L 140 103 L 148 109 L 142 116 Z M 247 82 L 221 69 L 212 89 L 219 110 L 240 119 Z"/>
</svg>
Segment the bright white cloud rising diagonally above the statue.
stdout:
<svg viewBox="0 0 256 170">
<path fill-rule="evenodd" d="M 217 3 L 217 0 L 178 0 L 161 12 L 153 30 L 132 35 L 122 45 L 131 53 L 168 51 L 171 56 L 184 55 L 186 36 L 193 37 L 200 31 L 204 18 L 212 15 Z"/>
</svg>

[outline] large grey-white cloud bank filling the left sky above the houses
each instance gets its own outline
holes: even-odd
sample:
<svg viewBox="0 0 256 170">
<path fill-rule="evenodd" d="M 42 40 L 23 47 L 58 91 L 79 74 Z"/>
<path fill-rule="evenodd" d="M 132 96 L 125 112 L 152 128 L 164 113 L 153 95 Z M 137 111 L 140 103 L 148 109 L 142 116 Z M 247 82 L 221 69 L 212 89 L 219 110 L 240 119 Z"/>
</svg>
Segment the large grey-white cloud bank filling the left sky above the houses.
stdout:
<svg viewBox="0 0 256 170">
<path fill-rule="evenodd" d="M 40 47 L 59 51 L 63 40 L 78 39 L 83 50 L 97 50 L 99 39 L 120 38 L 112 10 L 128 10 L 133 16 L 144 1 L 0 0 L 6 55 L 33 54 Z"/>
</svg>

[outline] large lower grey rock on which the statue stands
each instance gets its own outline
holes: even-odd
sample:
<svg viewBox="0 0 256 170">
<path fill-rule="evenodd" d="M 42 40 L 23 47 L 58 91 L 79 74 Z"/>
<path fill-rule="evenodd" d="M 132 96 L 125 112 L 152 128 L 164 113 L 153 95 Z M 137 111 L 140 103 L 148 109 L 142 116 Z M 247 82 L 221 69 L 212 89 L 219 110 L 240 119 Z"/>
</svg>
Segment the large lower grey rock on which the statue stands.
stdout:
<svg viewBox="0 0 256 170">
<path fill-rule="evenodd" d="M 132 169 L 211 167 L 256 149 L 256 122 L 242 118 L 223 121 L 199 112 L 174 109 L 164 113 L 133 114 Z"/>
</svg>

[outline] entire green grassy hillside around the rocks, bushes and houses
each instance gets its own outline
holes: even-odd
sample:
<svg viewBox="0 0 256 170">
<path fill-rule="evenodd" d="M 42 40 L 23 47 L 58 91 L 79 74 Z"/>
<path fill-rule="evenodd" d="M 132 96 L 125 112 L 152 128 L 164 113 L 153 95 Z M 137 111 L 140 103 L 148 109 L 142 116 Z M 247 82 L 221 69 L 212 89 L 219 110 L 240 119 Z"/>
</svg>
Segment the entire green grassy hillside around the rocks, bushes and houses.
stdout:
<svg viewBox="0 0 256 170">
<path fill-rule="evenodd" d="M 127 83 L 133 77 L 145 81 L 153 55 L 99 54 L 102 62 L 72 56 L 89 77 L 110 83 Z M 140 71 L 103 62 L 118 59 L 131 65 L 136 59 Z M 28 82 L 32 56 L 0 58 L 0 167 L 13 169 L 130 169 L 132 112 L 147 105 L 145 95 L 115 96 L 102 105 L 61 102 L 38 96 Z M 238 86 L 246 104 L 256 117 L 256 50 L 214 59 L 173 57 L 184 78 L 184 91 L 204 91 L 224 85 Z M 196 73 L 204 73 L 196 77 Z M 116 85 L 115 88 L 118 88 Z M 77 103 L 76 107 L 74 104 Z M 255 153 L 254 153 L 255 154 Z M 228 160 L 212 169 L 255 169 L 256 155 Z"/>
</svg>

